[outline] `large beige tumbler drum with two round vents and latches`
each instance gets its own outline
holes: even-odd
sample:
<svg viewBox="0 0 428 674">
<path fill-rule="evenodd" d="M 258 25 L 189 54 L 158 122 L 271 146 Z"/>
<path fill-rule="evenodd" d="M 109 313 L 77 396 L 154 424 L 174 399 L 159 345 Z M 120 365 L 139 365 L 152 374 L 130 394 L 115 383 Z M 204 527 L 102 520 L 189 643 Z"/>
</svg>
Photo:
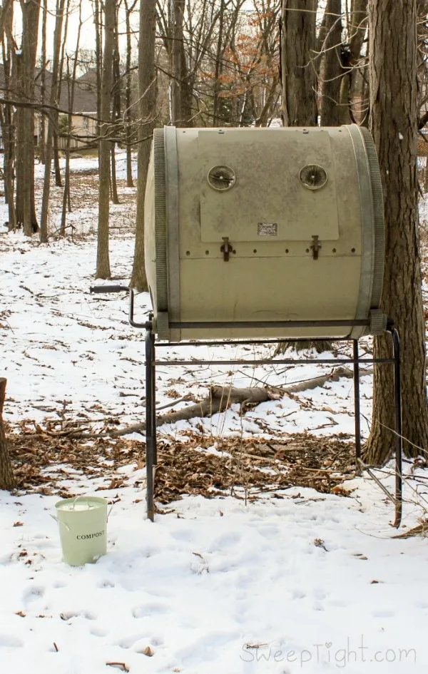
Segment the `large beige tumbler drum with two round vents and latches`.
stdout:
<svg viewBox="0 0 428 674">
<path fill-rule="evenodd" d="M 382 186 L 365 128 L 156 129 L 144 224 L 158 339 L 384 330 Z"/>
</svg>

